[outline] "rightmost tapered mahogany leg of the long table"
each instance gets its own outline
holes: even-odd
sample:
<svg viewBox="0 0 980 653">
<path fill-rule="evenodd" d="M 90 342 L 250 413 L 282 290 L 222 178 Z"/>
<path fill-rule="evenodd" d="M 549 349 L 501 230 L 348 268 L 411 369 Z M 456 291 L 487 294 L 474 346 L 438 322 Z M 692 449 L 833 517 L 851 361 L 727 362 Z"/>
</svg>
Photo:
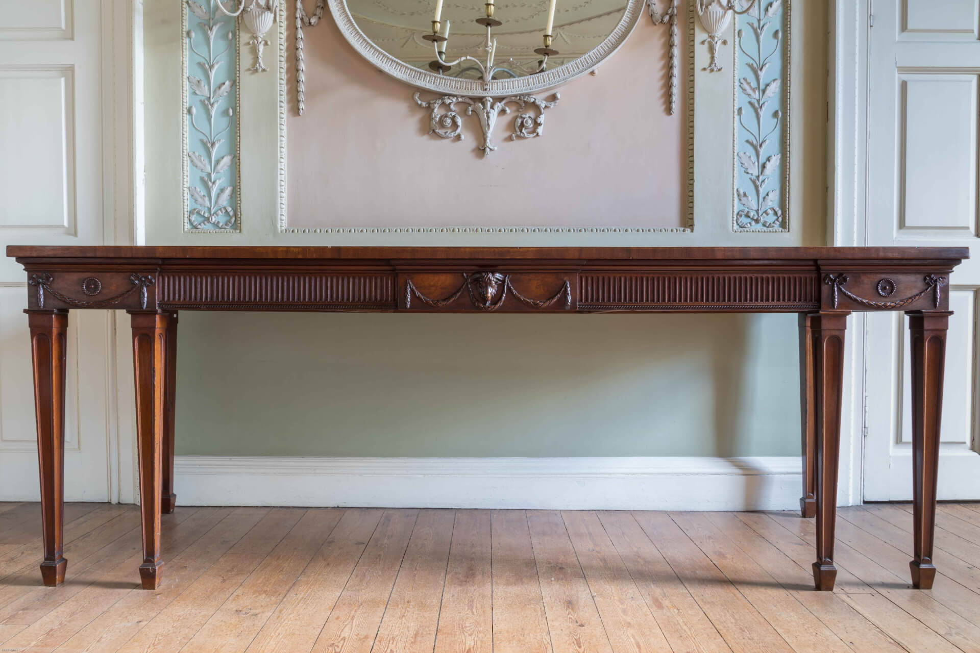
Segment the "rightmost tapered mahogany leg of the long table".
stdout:
<svg viewBox="0 0 980 653">
<path fill-rule="evenodd" d="M 932 562 L 936 530 L 939 427 L 943 412 L 946 332 L 952 311 L 909 311 L 912 376 L 912 585 L 929 589 L 936 578 Z"/>
</svg>

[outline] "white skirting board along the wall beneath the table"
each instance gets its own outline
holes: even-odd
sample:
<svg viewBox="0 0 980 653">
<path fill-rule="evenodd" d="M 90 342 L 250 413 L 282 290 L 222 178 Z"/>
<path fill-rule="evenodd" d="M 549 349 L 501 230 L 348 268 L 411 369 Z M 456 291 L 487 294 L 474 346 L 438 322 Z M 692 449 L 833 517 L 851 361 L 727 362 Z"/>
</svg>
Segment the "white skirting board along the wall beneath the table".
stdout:
<svg viewBox="0 0 980 653">
<path fill-rule="evenodd" d="M 793 510 L 801 461 L 176 456 L 181 505 Z"/>
</svg>

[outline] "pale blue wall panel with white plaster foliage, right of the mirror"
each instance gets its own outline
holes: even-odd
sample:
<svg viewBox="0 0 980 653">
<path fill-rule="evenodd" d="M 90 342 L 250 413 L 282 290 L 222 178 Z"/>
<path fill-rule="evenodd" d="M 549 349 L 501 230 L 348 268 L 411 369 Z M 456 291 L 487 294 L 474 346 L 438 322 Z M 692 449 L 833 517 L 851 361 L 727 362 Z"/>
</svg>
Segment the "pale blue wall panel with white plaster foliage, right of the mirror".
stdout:
<svg viewBox="0 0 980 653">
<path fill-rule="evenodd" d="M 788 231 L 790 0 L 735 2 L 734 228 Z"/>
</svg>

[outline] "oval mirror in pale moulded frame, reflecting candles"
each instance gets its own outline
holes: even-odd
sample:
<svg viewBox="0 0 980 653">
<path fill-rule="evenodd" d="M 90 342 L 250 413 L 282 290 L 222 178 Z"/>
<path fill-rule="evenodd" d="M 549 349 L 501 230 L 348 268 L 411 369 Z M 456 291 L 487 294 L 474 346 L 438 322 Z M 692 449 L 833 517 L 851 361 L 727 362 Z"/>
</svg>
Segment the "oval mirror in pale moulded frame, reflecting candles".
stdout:
<svg viewBox="0 0 980 653">
<path fill-rule="evenodd" d="M 625 41 L 643 5 L 329 0 L 341 32 L 377 68 L 437 93 L 491 97 L 544 91 L 595 69 Z"/>
</svg>

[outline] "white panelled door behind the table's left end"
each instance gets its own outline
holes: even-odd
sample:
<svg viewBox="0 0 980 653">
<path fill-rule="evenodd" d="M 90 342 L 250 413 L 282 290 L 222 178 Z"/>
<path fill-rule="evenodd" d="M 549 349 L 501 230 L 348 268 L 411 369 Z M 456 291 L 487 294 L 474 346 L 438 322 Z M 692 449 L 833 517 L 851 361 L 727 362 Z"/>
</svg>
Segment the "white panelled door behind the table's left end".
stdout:
<svg viewBox="0 0 980 653">
<path fill-rule="evenodd" d="M 112 222 L 104 214 L 112 200 L 106 200 L 103 182 L 111 168 L 104 162 L 112 161 L 112 152 L 104 152 L 102 108 L 111 75 L 104 72 L 103 53 L 111 47 L 111 34 L 103 33 L 103 5 L 100 0 L 0 0 L 4 246 L 107 243 L 105 224 Z M 26 292 L 20 265 L 0 259 L 0 500 L 40 495 Z M 110 499 L 111 319 L 107 311 L 69 316 L 68 500 Z"/>
</svg>

